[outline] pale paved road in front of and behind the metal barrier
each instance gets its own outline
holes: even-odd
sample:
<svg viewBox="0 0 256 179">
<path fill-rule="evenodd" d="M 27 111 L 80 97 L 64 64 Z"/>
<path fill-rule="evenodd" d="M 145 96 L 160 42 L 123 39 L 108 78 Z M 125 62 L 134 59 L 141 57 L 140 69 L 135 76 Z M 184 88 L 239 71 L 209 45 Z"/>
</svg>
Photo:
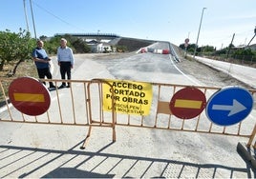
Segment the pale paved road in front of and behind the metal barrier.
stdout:
<svg viewBox="0 0 256 179">
<path fill-rule="evenodd" d="M 168 44 L 157 43 L 150 48 L 167 49 Z M 53 77 L 59 79 L 55 61 L 53 67 Z M 77 54 L 72 73 L 73 79 L 82 80 L 107 78 L 203 85 L 197 78 L 184 74 L 176 66 L 172 55 L 168 54 Z M 73 85 L 79 97 L 78 85 Z M 61 89 L 59 95 L 65 106 L 63 115 L 71 115 L 68 105 L 70 99 L 67 99 L 69 90 Z M 165 97 L 170 96 L 166 94 Z M 54 94 L 53 100 L 56 100 Z M 84 103 L 83 100 L 80 102 Z M 75 105 L 79 114 L 79 104 Z M 51 110 L 54 112 L 54 109 Z M 10 123 L 1 125 L 1 178 L 255 177 L 254 171 L 236 150 L 239 141 L 246 141 L 244 138 L 119 127 L 117 142 L 112 143 L 110 129 L 98 128 L 93 129 L 88 147 L 81 150 L 79 147 L 87 130 L 85 128 Z"/>
</svg>

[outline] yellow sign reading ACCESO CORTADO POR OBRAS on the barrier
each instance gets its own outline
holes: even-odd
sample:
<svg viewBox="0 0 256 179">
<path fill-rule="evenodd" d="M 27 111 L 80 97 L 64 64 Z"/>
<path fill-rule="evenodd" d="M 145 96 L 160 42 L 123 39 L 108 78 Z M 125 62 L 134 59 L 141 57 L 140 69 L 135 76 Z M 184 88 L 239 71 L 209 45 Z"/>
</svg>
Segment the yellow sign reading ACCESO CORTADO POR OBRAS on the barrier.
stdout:
<svg viewBox="0 0 256 179">
<path fill-rule="evenodd" d="M 115 110 L 119 113 L 134 115 L 148 115 L 150 113 L 151 84 L 124 80 L 107 80 L 107 82 L 112 85 L 113 89 L 109 85 L 103 84 L 104 110 L 112 110 L 112 99 L 115 99 Z"/>
</svg>

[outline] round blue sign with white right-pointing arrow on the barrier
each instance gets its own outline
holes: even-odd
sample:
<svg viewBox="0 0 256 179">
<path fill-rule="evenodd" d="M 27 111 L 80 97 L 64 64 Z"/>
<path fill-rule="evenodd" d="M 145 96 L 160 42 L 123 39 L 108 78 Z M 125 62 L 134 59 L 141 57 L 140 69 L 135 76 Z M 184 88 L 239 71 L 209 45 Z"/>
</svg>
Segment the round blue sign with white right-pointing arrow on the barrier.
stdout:
<svg viewBox="0 0 256 179">
<path fill-rule="evenodd" d="M 226 87 L 215 92 L 205 112 L 216 125 L 230 126 L 244 120 L 253 107 L 253 96 L 241 87 Z"/>
</svg>

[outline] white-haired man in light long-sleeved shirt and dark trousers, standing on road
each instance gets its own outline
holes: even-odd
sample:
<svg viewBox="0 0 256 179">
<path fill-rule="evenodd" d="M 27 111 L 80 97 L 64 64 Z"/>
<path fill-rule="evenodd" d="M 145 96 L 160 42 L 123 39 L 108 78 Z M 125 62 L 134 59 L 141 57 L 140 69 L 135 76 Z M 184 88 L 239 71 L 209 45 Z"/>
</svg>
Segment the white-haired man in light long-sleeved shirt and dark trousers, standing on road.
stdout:
<svg viewBox="0 0 256 179">
<path fill-rule="evenodd" d="M 61 79 L 66 79 L 66 74 L 68 77 L 68 80 L 71 79 L 71 69 L 74 68 L 74 54 L 73 50 L 69 47 L 67 47 L 67 40 L 64 38 L 60 39 L 60 47 L 57 49 L 57 61 L 58 65 L 60 67 L 60 74 Z M 59 89 L 62 88 L 70 88 L 70 83 L 68 83 L 68 86 L 66 86 L 65 82 L 62 82 L 62 85 L 59 87 Z"/>
</svg>

